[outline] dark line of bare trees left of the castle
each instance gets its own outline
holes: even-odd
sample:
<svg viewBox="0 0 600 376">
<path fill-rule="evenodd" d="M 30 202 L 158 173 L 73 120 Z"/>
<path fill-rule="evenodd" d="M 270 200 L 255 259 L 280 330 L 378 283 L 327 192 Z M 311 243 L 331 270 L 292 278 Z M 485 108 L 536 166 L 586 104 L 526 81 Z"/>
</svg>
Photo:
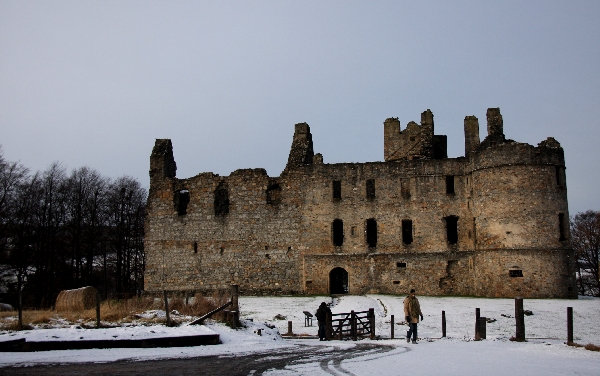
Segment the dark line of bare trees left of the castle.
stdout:
<svg viewBox="0 0 600 376">
<path fill-rule="evenodd" d="M 104 298 L 144 283 L 146 189 L 60 163 L 30 172 L 0 148 L 0 296 L 50 307 L 61 290 L 96 287 Z"/>
</svg>

